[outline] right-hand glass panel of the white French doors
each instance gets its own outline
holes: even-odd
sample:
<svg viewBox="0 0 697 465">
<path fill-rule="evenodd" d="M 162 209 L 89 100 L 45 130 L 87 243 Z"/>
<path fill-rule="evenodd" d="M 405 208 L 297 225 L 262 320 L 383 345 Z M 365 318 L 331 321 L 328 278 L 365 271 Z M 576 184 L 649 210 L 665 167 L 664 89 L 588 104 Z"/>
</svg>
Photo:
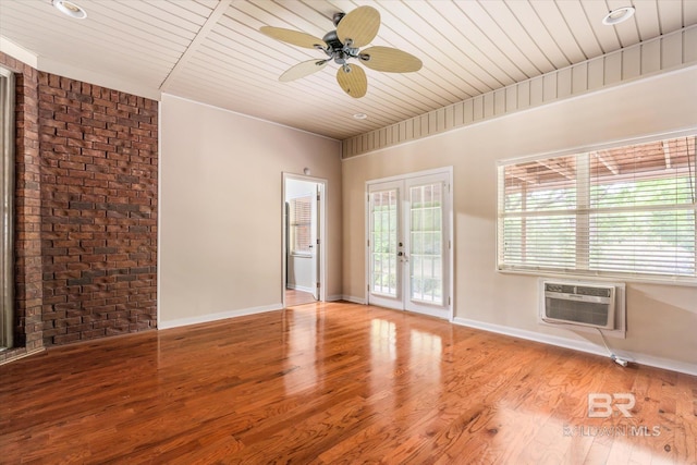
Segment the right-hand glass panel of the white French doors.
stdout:
<svg viewBox="0 0 697 465">
<path fill-rule="evenodd" d="M 411 187 L 409 205 L 409 297 L 412 301 L 442 305 L 442 183 Z"/>
</svg>

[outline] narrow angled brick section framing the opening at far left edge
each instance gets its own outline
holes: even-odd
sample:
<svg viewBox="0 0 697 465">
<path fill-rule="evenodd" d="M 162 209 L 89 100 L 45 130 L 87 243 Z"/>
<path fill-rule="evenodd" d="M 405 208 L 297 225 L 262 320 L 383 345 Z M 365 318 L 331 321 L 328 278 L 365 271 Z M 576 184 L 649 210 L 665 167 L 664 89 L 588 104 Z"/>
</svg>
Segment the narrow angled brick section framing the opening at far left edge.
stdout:
<svg viewBox="0 0 697 465">
<path fill-rule="evenodd" d="M 0 52 L 0 64 L 15 76 L 15 331 L 14 345 L 0 363 L 40 350 L 41 242 L 38 72 Z"/>
</svg>

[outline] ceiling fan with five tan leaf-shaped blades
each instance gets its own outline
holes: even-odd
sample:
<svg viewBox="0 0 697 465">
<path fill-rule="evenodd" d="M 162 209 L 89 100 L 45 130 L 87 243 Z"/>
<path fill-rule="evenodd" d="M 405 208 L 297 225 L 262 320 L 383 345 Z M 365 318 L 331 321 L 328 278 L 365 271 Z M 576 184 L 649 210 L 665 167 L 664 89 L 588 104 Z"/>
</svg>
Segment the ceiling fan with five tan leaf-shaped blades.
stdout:
<svg viewBox="0 0 697 465">
<path fill-rule="evenodd" d="M 339 64 L 337 82 L 351 97 L 359 98 L 368 90 L 366 72 L 356 63 L 356 59 L 375 71 L 388 73 L 411 73 L 421 69 L 421 60 L 403 50 L 374 46 L 360 51 L 378 35 L 380 13 L 372 7 L 358 7 L 352 12 L 334 13 L 335 30 L 325 34 L 321 39 L 310 34 L 282 27 L 264 26 L 259 30 L 269 37 L 294 46 L 322 50 L 328 58 L 303 61 L 291 66 L 279 77 L 290 82 L 322 70 L 330 61 Z"/>
</svg>

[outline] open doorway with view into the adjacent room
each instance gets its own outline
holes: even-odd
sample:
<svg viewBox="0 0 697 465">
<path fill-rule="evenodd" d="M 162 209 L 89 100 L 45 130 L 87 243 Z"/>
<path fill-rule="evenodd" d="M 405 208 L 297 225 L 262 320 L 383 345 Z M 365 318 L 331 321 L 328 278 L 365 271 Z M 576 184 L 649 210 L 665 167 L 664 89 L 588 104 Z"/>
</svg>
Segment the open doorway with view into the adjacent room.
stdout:
<svg viewBox="0 0 697 465">
<path fill-rule="evenodd" d="M 323 301 L 326 181 L 283 173 L 283 307 Z"/>
</svg>

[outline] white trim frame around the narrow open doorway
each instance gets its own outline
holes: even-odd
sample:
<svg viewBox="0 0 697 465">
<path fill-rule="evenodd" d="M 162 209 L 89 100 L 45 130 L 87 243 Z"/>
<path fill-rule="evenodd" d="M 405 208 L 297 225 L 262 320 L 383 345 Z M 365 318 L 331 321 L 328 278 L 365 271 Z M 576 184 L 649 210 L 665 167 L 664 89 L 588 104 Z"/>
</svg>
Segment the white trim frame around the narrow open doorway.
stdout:
<svg viewBox="0 0 697 465">
<path fill-rule="evenodd" d="M 319 186 L 319 203 L 317 206 L 317 224 L 319 231 L 317 232 L 317 238 L 319 240 L 319 253 L 318 260 L 319 266 L 316 270 L 317 282 L 319 283 L 318 302 L 325 302 L 327 299 L 327 187 L 329 182 L 322 178 L 307 176 L 304 174 L 294 174 L 282 172 L 281 182 L 281 305 L 285 308 L 285 284 L 288 280 L 288 222 L 285 221 L 285 185 L 288 180 L 304 181 L 315 183 Z M 317 267 L 316 267 L 317 268 Z"/>
</svg>

